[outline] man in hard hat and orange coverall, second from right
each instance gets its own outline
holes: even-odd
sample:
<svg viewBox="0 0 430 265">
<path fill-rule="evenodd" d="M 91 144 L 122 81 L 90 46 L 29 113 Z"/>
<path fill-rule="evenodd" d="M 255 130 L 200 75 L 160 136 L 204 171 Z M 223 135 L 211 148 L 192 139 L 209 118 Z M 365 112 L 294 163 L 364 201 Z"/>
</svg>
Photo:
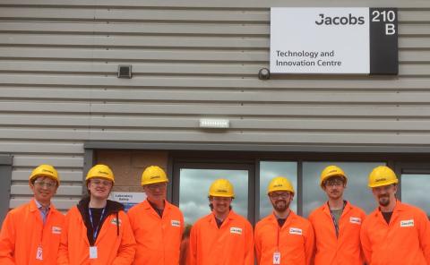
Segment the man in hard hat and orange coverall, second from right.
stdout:
<svg viewBox="0 0 430 265">
<path fill-rule="evenodd" d="M 343 200 L 347 182 L 340 167 L 325 167 L 321 173 L 320 185 L 329 200 L 309 216 L 315 233 L 315 265 L 364 263 L 360 229 L 366 213 Z"/>
</svg>

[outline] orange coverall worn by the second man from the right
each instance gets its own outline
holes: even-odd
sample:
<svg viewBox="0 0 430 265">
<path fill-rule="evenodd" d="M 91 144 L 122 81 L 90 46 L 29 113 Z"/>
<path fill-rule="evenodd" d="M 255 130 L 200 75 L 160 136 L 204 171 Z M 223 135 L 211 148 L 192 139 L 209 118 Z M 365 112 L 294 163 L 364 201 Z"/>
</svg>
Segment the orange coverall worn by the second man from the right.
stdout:
<svg viewBox="0 0 430 265">
<path fill-rule="evenodd" d="M 363 265 L 360 229 L 366 218 L 363 209 L 347 201 L 339 219 L 339 237 L 336 237 L 330 208 L 324 203 L 309 216 L 315 233 L 315 265 Z"/>
</svg>

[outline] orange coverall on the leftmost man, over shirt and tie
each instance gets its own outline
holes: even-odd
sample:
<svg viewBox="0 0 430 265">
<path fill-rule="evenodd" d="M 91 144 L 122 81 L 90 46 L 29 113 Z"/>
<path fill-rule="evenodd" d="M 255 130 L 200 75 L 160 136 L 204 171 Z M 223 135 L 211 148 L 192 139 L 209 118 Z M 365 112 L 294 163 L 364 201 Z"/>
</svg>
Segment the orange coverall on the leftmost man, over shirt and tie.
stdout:
<svg viewBox="0 0 430 265">
<path fill-rule="evenodd" d="M 63 226 L 64 215 L 52 204 L 45 225 L 34 199 L 12 209 L 0 233 L 0 264 L 56 264 Z M 36 259 L 39 246 L 43 261 Z"/>
</svg>

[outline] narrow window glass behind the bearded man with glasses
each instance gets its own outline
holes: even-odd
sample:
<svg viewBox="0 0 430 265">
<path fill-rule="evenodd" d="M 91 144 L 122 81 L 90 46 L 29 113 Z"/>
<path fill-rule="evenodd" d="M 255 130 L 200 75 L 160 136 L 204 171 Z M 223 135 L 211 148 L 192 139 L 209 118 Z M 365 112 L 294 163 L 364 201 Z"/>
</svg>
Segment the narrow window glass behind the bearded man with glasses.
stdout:
<svg viewBox="0 0 430 265">
<path fill-rule="evenodd" d="M 261 161 L 260 162 L 260 219 L 272 211 L 271 201 L 267 197 L 267 185 L 275 176 L 285 176 L 293 184 L 296 194 L 290 209 L 297 213 L 297 162 Z"/>
</svg>

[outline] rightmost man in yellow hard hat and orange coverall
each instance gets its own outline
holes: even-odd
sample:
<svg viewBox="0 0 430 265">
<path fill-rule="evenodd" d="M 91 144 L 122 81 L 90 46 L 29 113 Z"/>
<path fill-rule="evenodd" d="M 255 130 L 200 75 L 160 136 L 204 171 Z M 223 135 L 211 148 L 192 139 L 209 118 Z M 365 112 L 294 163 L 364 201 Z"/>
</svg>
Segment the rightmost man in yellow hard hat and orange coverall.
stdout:
<svg viewBox="0 0 430 265">
<path fill-rule="evenodd" d="M 375 167 L 369 175 L 379 207 L 361 229 L 368 264 L 430 264 L 430 224 L 422 209 L 396 199 L 399 180 L 390 167 Z"/>
</svg>

